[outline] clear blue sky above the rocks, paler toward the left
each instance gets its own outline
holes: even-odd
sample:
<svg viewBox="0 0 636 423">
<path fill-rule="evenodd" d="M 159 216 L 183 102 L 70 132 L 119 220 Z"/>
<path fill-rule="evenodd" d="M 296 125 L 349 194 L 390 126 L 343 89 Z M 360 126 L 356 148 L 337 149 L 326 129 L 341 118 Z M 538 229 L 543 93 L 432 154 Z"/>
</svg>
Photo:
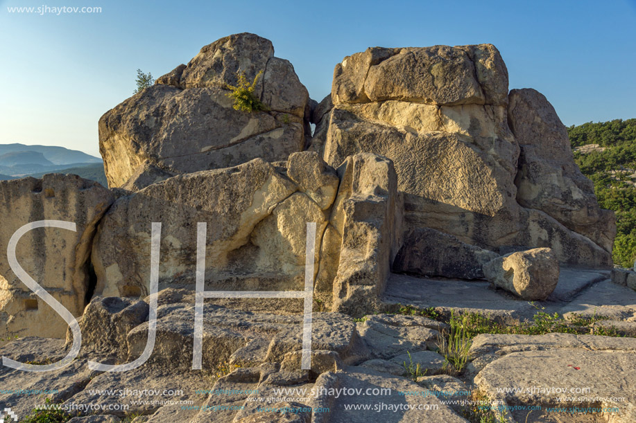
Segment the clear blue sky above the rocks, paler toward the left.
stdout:
<svg viewBox="0 0 636 423">
<path fill-rule="evenodd" d="M 636 118 L 636 0 L 0 0 L 0 143 L 98 155 L 98 119 L 132 94 L 137 68 L 163 75 L 241 32 L 272 40 L 318 101 L 334 65 L 368 46 L 492 43 L 510 89 L 538 89 L 565 125 Z"/>
</svg>

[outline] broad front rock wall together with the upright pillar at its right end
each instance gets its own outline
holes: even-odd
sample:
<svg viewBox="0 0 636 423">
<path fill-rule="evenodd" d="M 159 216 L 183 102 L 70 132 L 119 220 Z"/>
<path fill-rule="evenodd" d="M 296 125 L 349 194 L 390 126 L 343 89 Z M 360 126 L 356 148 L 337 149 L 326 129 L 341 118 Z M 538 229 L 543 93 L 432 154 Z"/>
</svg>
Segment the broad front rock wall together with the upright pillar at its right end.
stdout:
<svg viewBox="0 0 636 423">
<path fill-rule="evenodd" d="M 162 222 L 160 288 L 194 288 L 196 228 L 207 222 L 207 290 L 302 290 L 316 222 L 316 299 L 350 314 L 379 307 L 402 233 L 393 163 L 356 154 L 336 172 L 298 152 L 275 164 L 178 175 L 117 199 L 94 242 L 95 293 L 148 294 L 152 222 Z"/>
</svg>

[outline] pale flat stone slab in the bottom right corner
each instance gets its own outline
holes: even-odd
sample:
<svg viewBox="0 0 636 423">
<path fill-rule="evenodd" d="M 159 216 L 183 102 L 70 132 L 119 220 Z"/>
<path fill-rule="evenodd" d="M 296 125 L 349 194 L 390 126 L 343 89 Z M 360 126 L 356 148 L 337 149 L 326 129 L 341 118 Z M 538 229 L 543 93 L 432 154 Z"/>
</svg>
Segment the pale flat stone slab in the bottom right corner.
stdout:
<svg viewBox="0 0 636 423">
<path fill-rule="evenodd" d="M 474 380 L 480 390 L 504 406 L 541 406 L 542 411 L 587 408 L 586 414 L 603 415 L 611 422 L 636 421 L 633 351 L 561 348 L 512 352 L 485 366 Z M 601 412 L 600 408 L 608 407 L 617 410 Z M 527 413 L 513 411 L 513 417 L 524 421 Z"/>
</svg>

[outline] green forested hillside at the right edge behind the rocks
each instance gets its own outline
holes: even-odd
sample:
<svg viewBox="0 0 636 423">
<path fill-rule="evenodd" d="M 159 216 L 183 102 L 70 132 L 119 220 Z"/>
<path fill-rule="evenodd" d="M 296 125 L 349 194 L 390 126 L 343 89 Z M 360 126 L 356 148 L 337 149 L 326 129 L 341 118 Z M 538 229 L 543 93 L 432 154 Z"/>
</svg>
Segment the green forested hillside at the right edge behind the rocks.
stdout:
<svg viewBox="0 0 636 423">
<path fill-rule="evenodd" d="M 574 160 L 603 208 L 616 212 L 614 264 L 636 259 L 636 119 L 584 123 L 567 128 Z"/>
</svg>

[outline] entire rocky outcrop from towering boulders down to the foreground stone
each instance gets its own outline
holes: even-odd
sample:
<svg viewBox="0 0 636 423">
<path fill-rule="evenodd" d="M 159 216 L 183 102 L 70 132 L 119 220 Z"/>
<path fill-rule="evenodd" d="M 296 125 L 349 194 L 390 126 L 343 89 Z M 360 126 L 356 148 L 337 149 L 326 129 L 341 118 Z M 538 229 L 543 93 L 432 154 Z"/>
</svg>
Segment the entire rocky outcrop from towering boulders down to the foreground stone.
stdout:
<svg viewBox="0 0 636 423">
<path fill-rule="evenodd" d="M 232 108 L 227 84 L 236 84 L 237 71 L 248 80 L 264 71 L 255 92 L 268 111 Z M 316 131 L 306 145 L 310 122 Z M 26 271 L 78 316 L 84 341 L 62 370 L 0 366 L 6 386 L 0 409 L 26 415 L 43 404 L 34 392 L 47 390 L 54 404 L 92 405 L 74 421 L 139 415 L 135 422 L 462 422 L 457 404 L 412 393 L 462 390 L 458 395 L 474 404 L 468 392 L 474 381 L 492 401 L 485 406 L 552 405 L 556 397 L 525 395 L 517 382 L 553 386 L 559 378 L 610 399 L 636 386 L 635 341 L 579 334 L 610 334 L 614 325 L 635 333 L 636 297 L 627 287 L 636 286 L 636 273 L 613 272 L 623 287 L 605 281 L 610 271 L 559 270 L 557 262 L 608 267 L 612 213 L 599 208 L 574 165 L 547 100 L 532 90 L 508 95 L 506 66 L 490 44 L 370 48 L 336 66 L 332 93 L 318 103 L 308 100 L 291 64 L 273 57 L 268 40 L 231 35 L 108 111 L 100 147 L 111 190 L 61 175 L 0 182 L 0 251 L 29 222 L 76 223 L 76 233 L 27 233 L 17 253 Z M 89 370 L 88 359 L 144 357 L 154 311 L 147 296 L 153 222 L 162 223 L 153 351 L 135 370 Z M 205 371 L 191 370 L 198 222 L 207 224 L 207 291 L 302 290 L 306 225 L 316 223 L 309 370 L 299 368 L 302 323 L 309 320 L 302 315 L 308 304 L 298 298 L 207 299 Z M 474 281 L 481 278 L 525 299 L 549 296 L 540 305 L 546 313 L 576 317 L 576 325 L 556 318 L 550 325 L 577 334 L 482 334 L 472 341 L 465 369 L 460 359 L 450 365 L 432 350 L 446 344 L 449 325 L 442 320 L 452 312 L 514 319 L 526 330 L 520 321 L 535 316 L 526 301 Z M 426 310 L 377 314 L 400 305 Z M 585 325 L 585 316 L 608 320 Z M 0 338 L 63 337 L 67 328 L 17 280 L 3 255 L 0 322 Z M 71 343 L 67 333 L 66 345 L 27 336 L 0 355 L 55 362 Z M 627 371 L 612 372 L 617 357 L 619 367 L 632 369 L 627 379 Z M 524 371 L 508 375 L 519 359 Z M 597 363 L 600 370 L 590 373 Z M 144 388 L 128 394 L 137 386 Z M 281 387 L 296 393 L 277 402 Z M 300 395 L 304 390 L 316 395 Z M 357 390 L 367 395 L 351 395 Z M 612 421 L 635 421 L 636 400 L 625 399 L 620 411 L 608 411 Z M 496 414 L 529 421 L 515 412 Z M 535 421 L 552 417 L 546 411 Z"/>
</svg>

